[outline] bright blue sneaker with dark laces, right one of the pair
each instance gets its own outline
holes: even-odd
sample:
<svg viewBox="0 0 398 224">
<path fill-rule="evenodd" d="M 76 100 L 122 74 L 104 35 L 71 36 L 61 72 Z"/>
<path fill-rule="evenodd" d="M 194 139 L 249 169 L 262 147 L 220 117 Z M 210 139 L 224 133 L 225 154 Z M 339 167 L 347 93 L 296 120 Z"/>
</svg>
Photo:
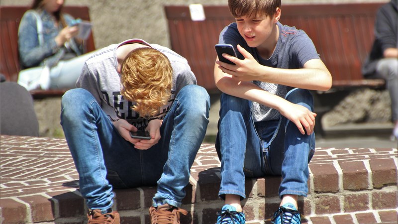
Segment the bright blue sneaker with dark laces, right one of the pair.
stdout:
<svg viewBox="0 0 398 224">
<path fill-rule="evenodd" d="M 300 213 L 292 203 L 279 207 L 271 219 L 273 224 L 301 224 Z"/>
</svg>

